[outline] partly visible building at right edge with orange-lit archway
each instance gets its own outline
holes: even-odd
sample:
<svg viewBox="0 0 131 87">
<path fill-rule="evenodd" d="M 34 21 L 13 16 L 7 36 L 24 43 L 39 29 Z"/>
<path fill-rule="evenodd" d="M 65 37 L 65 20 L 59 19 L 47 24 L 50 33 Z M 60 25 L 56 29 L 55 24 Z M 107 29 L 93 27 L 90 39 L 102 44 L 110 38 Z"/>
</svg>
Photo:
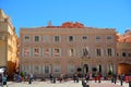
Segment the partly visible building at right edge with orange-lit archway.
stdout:
<svg viewBox="0 0 131 87">
<path fill-rule="evenodd" d="M 131 29 L 127 29 L 124 34 L 118 35 L 117 50 L 117 55 L 120 58 L 118 60 L 118 73 L 131 73 Z"/>
</svg>

